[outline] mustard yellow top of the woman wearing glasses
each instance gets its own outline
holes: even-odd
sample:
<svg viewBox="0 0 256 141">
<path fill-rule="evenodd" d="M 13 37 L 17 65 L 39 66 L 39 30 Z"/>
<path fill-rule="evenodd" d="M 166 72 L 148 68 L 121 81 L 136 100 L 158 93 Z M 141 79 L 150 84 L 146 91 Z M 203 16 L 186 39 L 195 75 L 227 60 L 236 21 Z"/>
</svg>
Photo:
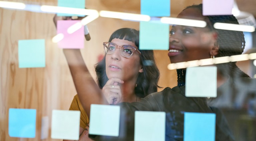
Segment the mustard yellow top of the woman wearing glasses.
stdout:
<svg viewBox="0 0 256 141">
<path fill-rule="evenodd" d="M 74 96 L 74 99 L 70 105 L 69 110 L 80 110 L 81 111 L 80 127 L 85 129 L 86 126 L 88 126 L 88 124 L 89 124 L 89 118 L 88 118 L 86 112 L 84 111 L 82 104 L 79 101 L 78 95 Z"/>
</svg>

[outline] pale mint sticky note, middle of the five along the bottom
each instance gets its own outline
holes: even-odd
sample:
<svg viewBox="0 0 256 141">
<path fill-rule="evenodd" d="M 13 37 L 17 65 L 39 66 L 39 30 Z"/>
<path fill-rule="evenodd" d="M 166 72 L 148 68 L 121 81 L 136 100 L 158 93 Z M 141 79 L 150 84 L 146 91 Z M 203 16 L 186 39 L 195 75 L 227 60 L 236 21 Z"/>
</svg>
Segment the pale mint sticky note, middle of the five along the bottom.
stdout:
<svg viewBox="0 0 256 141">
<path fill-rule="evenodd" d="M 91 135 L 119 135 L 120 106 L 91 105 L 90 129 Z"/>
</svg>

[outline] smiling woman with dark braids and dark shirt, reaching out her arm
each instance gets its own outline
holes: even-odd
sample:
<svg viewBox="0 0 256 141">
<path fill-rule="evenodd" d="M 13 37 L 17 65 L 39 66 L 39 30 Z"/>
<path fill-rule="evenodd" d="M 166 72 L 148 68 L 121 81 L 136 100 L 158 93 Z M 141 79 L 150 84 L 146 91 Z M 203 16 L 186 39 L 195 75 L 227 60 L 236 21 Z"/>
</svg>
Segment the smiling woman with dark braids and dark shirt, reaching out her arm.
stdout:
<svg viewBox="0 0 256 141">
<path fill-rule="evenodd" d="M 178 18 L 203 20 L 207 23 L 205 28 L 174 25 L 170 31 L 170 46 L 168 56 L 172 63 L 205 59 L 211 57 L 237 55 L 243 52 L 245 42 L 242 32 L 216 30 L 213 24 L 216 22 L 238 24 L 233 15 L 203 16 L 202 5 L 194 5 L 183 10 Z M 81 70 L 86 66 L 80 66 Z M 217 86 L 229 83 L 229 78 L 234 76 L 248 77 L 235 63 L 217 65 Z M 79 68 L 77 68 L 79 69 Z M 72 67 L 70 68 L 72 73 Z M 133 140 L 134 135 L 134 111 L 165 111 L 166 112 L 166 140 L 183 140 L 184 112 L 216 113 L 216 141 L 232 141 L 234 137 L 230 132 L 222 113 L 214 107 L 209 107 L 205 98 L 185 97 L 185 69 L 177 70 L 178 86 L 165 88 L 161 92 L 153 93 L 135 103 L 121 103 L 121 123 L 129 123 L 126 126 L 126 136 L 113 140 Z M 93 87 L 90 81 L 75 77 L 76 82 L 87 84 L 86 88 Z M 196 81 L 196 80 L 195 80 Z M 202 86 L 203 87 L 203 86 Z M 83 107 L 89 113 L 90 104 L 104 104 L 101 93 L 94 89 L 85 91 L 86 88 L 76 86 Z M 108 97 L 106 97 L 108 99 Z M 106 104 L 106 102 L 105 102 Z M 153 122 L 153 121 L 152 121 Z M 122 130 L 122 128 L 121 128 Z M 95 140 L 105 140 L 106 137 L 97 136 Z M 109 138 L 108 138 L 109 139 Z M 111 140 L 112 140 L 111 139 Z"/>
</svg>

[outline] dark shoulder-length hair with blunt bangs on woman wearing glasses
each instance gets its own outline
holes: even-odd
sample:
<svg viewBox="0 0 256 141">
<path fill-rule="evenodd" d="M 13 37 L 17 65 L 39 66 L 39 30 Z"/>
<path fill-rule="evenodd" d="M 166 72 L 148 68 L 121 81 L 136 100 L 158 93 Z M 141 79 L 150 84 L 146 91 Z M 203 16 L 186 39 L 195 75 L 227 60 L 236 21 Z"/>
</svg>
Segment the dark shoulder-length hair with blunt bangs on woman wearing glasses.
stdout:
<svg viewBox="0 0 256 141">
<path fill-rule="evenodd" d="M 139 31 L 135 29 L 118 29 L 110 36 L 109 42 L 111 42 L 114 38 L 131 41 L 137 47 L 139 47 Z M 143 72 L 139 73 L 139 76 L 137 78 L 135 94 L 140 98 L 144 98 L 148 94 L 157 92 L 157 83 L 159 80 L 160 73 L 155 64 L 153 50 L 140 50 L 140 52 L 140 63 L 142 65 Z M 95 71 L 97 74 L 99 87 L 102 89 L 108 81 L 106 74 L 106 54 L 104 58 L 98 64 L 96 64 Z"/>
</svg>

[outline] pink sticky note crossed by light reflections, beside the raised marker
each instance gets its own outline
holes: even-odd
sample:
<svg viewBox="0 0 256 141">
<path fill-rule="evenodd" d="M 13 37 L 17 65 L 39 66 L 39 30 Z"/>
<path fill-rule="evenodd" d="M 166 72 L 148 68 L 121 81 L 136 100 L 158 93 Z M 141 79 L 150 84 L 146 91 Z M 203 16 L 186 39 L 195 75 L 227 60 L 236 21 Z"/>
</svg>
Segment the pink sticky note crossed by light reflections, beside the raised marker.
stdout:
<svg viewBox="0 0 256 141">
<path fill-rule="evenodd" d="M 58 42 L 60 48 L 83 48 L 84 47 L 84 26 L 72 34 L 67 32 L 68 28 L 80 20 L 64 20 L 57 22 L 57 34 L 62 33 L 64 38 Z"/>
</svg>

